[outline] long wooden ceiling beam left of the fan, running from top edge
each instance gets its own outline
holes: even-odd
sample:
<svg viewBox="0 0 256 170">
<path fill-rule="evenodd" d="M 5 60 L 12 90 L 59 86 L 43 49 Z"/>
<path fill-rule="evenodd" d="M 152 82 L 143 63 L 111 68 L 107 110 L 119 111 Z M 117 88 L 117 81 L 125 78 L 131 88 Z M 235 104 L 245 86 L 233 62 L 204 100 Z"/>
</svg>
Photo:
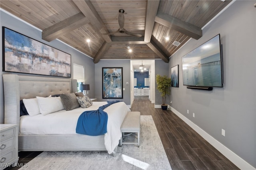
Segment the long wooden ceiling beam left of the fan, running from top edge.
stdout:
<svg viewBox="0 0 256 170">
<path fill-rule="evenodd" d="M 92 23 L 94 29 L 100 33 L 109 33 L 106 25 L 100 18 L 100 15 L 92 5 L 92 2 L 89 0 L 73 0 L 74 4 L 79 8 L 79 10 L 88 18 L 90 23 Z M 110 43 L 111 37 L 110 35 L 102 35 L 103 39 L 107 42 Z"/>
</svg>

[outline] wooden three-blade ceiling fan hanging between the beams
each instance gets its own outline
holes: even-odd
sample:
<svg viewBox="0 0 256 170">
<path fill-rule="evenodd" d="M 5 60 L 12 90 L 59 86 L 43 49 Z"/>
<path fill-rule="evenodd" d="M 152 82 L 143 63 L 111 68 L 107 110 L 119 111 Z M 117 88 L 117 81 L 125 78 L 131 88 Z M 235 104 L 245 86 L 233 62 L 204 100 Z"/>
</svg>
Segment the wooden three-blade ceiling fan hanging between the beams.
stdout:
<svg viewBox="0 0 256 170">
<path fill-rule="evenodd" d="M 103 35 L 113 35 L 113 34 L 119 32 L 119 33 L 125 33 L 127 35 L 131 35 L 133 37 L 141 37 L 142 36 L 140 34 L 131 33 L 129 31 L 127 31 L 126 29 L 124 29 L 124 10 L 122 10 L 122 9 L 119 10 L 118 24 L 119 24 L 119 29 L 118 30 L 116 30 L 115 32 L 112 32 L 112 33 L 105 33 Z"/>
</svg>

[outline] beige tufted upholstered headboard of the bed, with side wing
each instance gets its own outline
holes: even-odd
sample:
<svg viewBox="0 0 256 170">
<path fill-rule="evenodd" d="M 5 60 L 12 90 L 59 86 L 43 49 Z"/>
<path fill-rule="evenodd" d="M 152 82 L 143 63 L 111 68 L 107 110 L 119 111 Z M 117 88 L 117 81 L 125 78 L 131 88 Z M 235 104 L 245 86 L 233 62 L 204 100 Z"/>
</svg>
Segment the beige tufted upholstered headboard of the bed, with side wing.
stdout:
<svg viewBox="0 0 256 170">
<path fill-rule="evenodd" d="M 4 123 L 20 123 L 20 100 L 77 91 L 77 81 L 66 78 L 3 74 Z"/>
</svg>

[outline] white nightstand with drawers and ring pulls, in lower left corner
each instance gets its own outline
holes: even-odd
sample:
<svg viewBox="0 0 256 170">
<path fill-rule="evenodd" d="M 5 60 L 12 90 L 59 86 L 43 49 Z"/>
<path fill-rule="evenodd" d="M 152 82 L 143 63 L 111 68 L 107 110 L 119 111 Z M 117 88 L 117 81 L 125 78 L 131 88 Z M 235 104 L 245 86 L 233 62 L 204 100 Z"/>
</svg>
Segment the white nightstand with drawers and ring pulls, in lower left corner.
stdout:
<svg viewBox="0 0 256 170">
<path fill-rule="evenodd" d="M 0 124 L 0 170 L 18 164 L 18 124 Z"/>
</svg>

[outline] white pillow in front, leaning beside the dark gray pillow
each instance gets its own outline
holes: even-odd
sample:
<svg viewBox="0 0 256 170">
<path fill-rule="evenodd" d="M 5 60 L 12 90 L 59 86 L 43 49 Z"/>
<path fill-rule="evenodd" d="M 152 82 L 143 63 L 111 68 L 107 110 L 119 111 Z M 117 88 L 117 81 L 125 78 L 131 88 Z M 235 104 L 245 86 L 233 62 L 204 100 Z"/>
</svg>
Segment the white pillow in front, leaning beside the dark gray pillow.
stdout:
<svg viewBox="0 0 256 170">
<path fill-rule="evenodd" d="M 49 113 L 53 113 L 64 109 L 60 97 L 42 98 L 36 96 L 36 98 L 38 100 L 40 113 L 42 113 L 42 115 L 47 115 Z"/>
</svg>

